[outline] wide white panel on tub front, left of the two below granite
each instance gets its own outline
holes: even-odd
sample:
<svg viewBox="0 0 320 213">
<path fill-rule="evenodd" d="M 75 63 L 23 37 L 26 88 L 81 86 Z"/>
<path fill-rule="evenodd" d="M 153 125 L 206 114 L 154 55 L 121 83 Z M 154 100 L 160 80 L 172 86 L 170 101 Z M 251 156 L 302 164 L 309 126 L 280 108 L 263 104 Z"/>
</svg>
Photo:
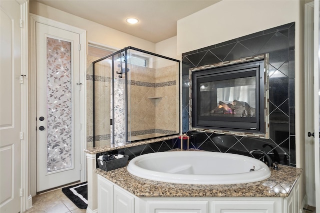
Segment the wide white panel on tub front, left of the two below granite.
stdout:
<svg viewBox="0 0 320 213">
<path fill-rule="evenodd" d="M 207 213 L 208 201 L 148 201 L 147 213 Z"/>
</svg>

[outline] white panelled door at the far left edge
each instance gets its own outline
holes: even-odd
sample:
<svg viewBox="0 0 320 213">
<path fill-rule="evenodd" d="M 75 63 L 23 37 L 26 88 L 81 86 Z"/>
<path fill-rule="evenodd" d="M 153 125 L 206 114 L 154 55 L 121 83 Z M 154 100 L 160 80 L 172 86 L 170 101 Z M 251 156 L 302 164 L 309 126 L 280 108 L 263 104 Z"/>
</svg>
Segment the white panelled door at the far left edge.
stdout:
<svg viewBox="0 0 320 213">
<path fill-rule="evenodd" d="M 20 212 L 20 4 L 0 1 L 0 212 Z"/>
</svg>

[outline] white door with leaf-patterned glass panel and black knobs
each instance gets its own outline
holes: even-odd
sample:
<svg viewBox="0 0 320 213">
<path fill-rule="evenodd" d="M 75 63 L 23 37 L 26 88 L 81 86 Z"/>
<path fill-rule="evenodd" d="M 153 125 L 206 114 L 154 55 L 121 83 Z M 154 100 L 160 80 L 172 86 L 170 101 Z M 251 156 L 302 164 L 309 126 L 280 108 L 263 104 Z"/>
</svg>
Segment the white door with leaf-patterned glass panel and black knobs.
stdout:
<svg viewBox="0 0 320 213">
<path fill-rule="evenodd" d="M 37 192 L 80 180 L 79 34 L 36 23 Z"/>
</svg>

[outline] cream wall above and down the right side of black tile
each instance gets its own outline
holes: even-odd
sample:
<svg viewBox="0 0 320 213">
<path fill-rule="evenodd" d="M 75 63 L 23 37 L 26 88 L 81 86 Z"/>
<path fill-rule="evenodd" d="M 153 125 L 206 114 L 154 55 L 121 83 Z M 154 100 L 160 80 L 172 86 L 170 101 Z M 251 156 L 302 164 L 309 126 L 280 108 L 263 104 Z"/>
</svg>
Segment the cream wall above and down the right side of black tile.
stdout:
<svg viewBox="0 0 320 213">
<path fill-rule="evenodd" d="M 295 22 L 295 151 L 304 168 L 304 0 L 222 0 L 177 21 L 177 54 Z M 302 176 L 304 183 L 304 176 Z M 305 190 L 301 190 L 303 199 Z"/>
</svg>

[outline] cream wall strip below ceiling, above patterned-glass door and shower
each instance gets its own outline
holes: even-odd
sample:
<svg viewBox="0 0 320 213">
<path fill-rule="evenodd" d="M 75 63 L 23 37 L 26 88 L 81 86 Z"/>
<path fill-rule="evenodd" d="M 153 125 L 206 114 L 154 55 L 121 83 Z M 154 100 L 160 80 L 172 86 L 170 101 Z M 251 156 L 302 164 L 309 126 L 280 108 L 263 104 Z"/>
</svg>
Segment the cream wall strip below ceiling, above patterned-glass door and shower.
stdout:
<svg viewBox="0 0 320 213">
<path fill-rule="evenodd" d="M 104 44 L 116 49 L 133 46 L 150 52 L 155 51 L 155 44 L 150 41 L 80 18 L 36 1 L 30 1 L 29 11 L 42 17 L 85 29 L 87 41 Z"/>
</svg>

